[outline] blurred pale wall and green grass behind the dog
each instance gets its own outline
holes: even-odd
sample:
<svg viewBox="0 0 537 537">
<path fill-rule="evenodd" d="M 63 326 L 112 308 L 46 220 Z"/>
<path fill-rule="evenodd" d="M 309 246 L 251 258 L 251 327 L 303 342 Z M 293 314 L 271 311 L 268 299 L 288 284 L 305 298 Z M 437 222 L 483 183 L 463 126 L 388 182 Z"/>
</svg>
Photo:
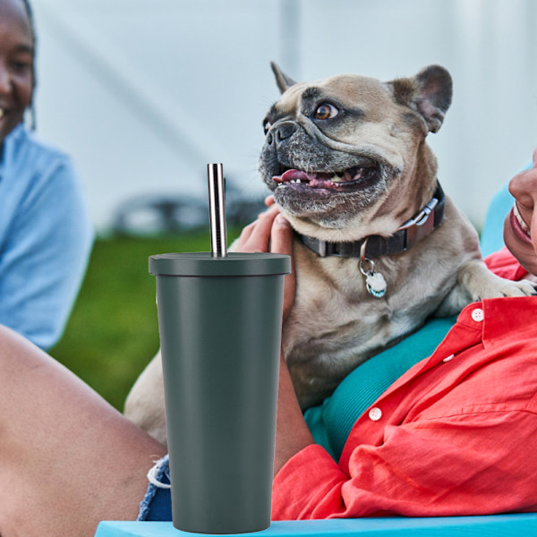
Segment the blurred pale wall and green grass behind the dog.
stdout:
<svg viewBox="0 0 537 537">
<path fill-rule="evenodd" d="M 533 0 L 32 4 L 38 134 L 72 156 L 98 230 L 53 355 L 118 407 L 158 349 L 147 256 L 209 248 L 206 164 L 224 163 L 230 242 L 262 208 L 270 60 L 297 81 L 447 67 L 453 104 L 429 141 L 444 190 L 478 228 L 537 145 Z"/>
</svg>

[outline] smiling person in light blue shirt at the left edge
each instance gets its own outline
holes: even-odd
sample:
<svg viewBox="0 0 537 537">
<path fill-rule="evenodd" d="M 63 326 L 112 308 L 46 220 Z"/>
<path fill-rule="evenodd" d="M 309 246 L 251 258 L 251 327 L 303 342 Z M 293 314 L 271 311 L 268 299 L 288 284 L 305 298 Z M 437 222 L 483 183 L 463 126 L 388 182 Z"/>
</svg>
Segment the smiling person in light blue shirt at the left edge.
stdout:
<svg viewBox="0 0 537 537">
<path fill-rule="evenodd" d="M 72 163 L 24 124 L 36 85 L 27 0 L 0 0 L 0 324 L 48 349 L 81 285 L 93 230 Z"/>
</svg>

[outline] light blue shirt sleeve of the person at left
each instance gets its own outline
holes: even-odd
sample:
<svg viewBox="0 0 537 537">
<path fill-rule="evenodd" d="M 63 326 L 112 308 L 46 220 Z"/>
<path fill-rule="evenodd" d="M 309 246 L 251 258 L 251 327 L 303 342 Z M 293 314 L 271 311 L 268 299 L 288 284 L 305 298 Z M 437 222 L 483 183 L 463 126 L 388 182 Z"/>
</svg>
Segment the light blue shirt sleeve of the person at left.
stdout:
<svg viewBox="0 0 537 537">
<path fill-rule="evenodd" d="M 61 336 L 81 285 L 93 230 L 69 158 L 36 178 L 0 257 L 0 323 L 47 349 Z"/>
</svg>

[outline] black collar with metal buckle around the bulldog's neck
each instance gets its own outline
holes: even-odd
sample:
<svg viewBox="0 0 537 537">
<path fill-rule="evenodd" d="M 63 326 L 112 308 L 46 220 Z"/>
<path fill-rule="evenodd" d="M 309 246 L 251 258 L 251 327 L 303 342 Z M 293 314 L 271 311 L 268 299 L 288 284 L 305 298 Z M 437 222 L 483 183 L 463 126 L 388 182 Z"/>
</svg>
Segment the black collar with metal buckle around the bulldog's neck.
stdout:
<svg viewBox="0 0 537 537">
<path fill-rule="evenodd" d="M 389 237 L 370 235 L 360 241 L 351 243 L 328 243 L 313 237 L 294 232 L 299 240 L 320 257 L 335 256 L 343 258 L 377 258 L 381 255 L 393 255 L 412 248 L 423 237 L 432 233 L 444 220 L 446 195 L 437 181 L 437 189 L 430 202 L 413 218 L 399 227 Z M 365 254 L 361 252 L 362 243 L 367 241 Z"/>
</svg>

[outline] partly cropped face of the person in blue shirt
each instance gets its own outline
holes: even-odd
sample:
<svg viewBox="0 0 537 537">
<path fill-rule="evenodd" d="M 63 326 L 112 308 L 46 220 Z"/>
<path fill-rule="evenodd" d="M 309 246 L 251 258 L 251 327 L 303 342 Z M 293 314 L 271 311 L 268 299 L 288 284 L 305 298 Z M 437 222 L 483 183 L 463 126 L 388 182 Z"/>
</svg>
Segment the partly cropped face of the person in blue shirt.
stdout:
<svg viewBox="0 0 537 537">
<path fill-rule="evenodd" d="M 0 0 L 0 147 L 31 104 L 34 42 L 21 0 Z"/>
</svg>

